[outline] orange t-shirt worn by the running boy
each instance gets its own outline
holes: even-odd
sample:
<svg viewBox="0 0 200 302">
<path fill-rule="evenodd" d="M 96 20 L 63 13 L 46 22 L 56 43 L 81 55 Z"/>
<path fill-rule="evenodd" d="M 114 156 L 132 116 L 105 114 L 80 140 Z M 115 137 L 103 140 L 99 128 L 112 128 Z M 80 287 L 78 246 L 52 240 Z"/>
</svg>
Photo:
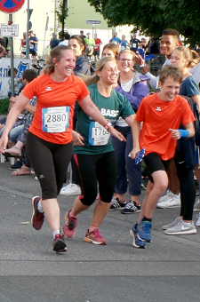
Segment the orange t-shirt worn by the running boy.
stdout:
<svg viewBox="0 0 200 302">
<path fill-rule="evenodd" d="M 179 129 L 180 123 L 186 125 L 196 119 L 187 99 L 177 95 L 164 101 L 156 93 L 142 99 L 135 120 L 143 122 L 140 148 L 146 149 L 146 155 L 156 153 L 166 161 L 173 157 L 177 143 L 169 129 Z"/>
</svg>

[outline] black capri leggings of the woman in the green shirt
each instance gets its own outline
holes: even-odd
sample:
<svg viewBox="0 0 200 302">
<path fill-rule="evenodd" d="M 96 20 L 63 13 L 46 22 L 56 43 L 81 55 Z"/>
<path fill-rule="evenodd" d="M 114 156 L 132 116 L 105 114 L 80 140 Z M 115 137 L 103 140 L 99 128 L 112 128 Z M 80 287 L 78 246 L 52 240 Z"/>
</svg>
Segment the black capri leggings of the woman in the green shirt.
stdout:
<svg viewBox="0 0 200 302">
<path fill-rule="evenodd" d="M 79 174 L 84 205 L 94 203 L 98 193 L 100 200 L 110 203 L 116 186 L 116 155 L 114 151 L 101 155 L 74 155 L 76 173 Z M 98 182 L 98 183 L 97 183 Z"/>
</svg>

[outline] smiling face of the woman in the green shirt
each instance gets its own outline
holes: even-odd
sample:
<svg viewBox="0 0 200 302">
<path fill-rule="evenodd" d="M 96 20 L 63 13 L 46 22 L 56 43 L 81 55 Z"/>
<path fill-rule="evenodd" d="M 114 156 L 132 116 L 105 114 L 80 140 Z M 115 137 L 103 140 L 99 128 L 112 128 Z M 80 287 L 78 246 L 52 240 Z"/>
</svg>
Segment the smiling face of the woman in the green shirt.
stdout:
<svg viewBox="0 0 200 302">
<path fill-rule="evenodd" d="M 108 61 L 101 71 L 97 71 L 97 75 L 100 76 L 100 81 L 102 81 L 102 83 L 107 85 L 116 83 L 118 77 L 116 62 Z"/>
</svg>

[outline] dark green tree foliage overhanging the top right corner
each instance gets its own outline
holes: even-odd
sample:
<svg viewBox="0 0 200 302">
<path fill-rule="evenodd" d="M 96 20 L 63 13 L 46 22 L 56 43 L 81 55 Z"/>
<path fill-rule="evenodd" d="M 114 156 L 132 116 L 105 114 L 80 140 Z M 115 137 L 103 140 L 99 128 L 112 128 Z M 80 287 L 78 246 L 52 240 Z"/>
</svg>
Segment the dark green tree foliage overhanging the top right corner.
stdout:
<svg viewBox="0 0 200 302">
<path fill-rule="evenodd" d="M 177 29 L 186 43 L 200 44 L 200 5 L 195 0 L 88 0 L 109 27 L 134 25 L 150 36 Z"/>
</svg>

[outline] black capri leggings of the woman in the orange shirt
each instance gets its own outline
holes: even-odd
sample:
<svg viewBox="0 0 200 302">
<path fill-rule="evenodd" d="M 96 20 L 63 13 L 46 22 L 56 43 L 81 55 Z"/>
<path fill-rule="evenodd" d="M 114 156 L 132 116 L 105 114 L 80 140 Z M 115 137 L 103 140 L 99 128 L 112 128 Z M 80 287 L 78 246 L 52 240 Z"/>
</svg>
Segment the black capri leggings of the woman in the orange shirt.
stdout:
<svg viewBox="0 0 200 302">
<path fill-rule="evenodd" d="M 28 131 L 27 154 L 42 188 L 42 199 L 56 198 L 64 183 L 73 142 L 53 144 Z"/>
</svg>

